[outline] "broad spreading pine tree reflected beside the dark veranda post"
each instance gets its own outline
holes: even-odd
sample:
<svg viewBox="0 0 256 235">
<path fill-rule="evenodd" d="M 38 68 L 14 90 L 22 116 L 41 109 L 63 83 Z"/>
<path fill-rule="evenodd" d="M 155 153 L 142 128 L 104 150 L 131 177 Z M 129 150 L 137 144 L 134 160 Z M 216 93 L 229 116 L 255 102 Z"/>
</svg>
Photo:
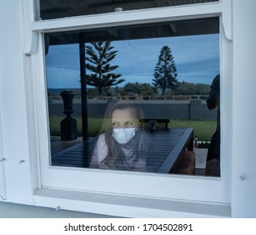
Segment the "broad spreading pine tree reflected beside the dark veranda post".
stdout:
<svg viewBox="0 0 256 235">
<path fill-rule="evenodd" d="M 111 42 L 95 42 L 86 45 L 86 68 L 91 71 L 86 75 L 87 84 L 98 89 L 99 96 L 102 95 L 103 87 L 115 86 L 125 81 L 118 79 L 121 75 L 114 71 L 118 65 L 110 65 L 109 62 L 117 55 L 117 50 L 113 50 Z"/>
</svg>

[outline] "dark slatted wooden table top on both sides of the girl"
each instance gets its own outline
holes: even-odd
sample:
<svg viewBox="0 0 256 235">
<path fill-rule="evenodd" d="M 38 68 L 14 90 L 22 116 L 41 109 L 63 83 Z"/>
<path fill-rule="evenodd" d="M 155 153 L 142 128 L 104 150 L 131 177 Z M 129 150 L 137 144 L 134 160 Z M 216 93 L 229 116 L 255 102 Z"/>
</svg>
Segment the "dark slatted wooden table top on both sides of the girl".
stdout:
<svg viewBox="0 0 256 235">
<path fill-rule="evenodd" d="M 175 164 L 179 162 L 184 150 L 193 150 L 193 128 L 168 128 L 147 132 L 147 171 L 157 173 L 175 173 Z M 88 168 L 96 138 L 76 144 L 59 153 L 52 154 L 51 164 Z"/>
</svg>

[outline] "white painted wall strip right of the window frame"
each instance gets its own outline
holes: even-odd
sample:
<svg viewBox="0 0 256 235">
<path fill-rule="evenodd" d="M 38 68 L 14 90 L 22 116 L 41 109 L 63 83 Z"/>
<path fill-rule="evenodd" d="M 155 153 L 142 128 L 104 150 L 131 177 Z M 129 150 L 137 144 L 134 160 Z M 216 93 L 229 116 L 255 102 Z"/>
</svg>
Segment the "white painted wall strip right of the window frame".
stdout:
<svg viewBox="0 0 256 235">
<path fill-rule="evenodd" d="M 233 2 L 233 217 L 256 217 L 255 10 L 256 1 Z"/>
</svg>

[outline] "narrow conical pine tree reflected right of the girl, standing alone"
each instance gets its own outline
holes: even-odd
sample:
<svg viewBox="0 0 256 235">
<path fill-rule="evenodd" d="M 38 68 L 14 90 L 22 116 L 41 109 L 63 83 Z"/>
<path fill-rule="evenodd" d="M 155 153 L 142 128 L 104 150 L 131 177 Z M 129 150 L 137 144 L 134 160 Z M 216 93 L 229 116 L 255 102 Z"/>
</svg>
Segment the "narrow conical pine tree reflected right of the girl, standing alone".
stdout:
<svg viewBox="0 0 256 235">
<path fill-rule="evenodd" d="M 162 90 L 164 95 L 167 89 L 175 90 L 178 86 L 176 65 L 171 49 L 165 45 L 160 51 L 157 65 L 155 67 L 152 85 Z"/>
</svg>

